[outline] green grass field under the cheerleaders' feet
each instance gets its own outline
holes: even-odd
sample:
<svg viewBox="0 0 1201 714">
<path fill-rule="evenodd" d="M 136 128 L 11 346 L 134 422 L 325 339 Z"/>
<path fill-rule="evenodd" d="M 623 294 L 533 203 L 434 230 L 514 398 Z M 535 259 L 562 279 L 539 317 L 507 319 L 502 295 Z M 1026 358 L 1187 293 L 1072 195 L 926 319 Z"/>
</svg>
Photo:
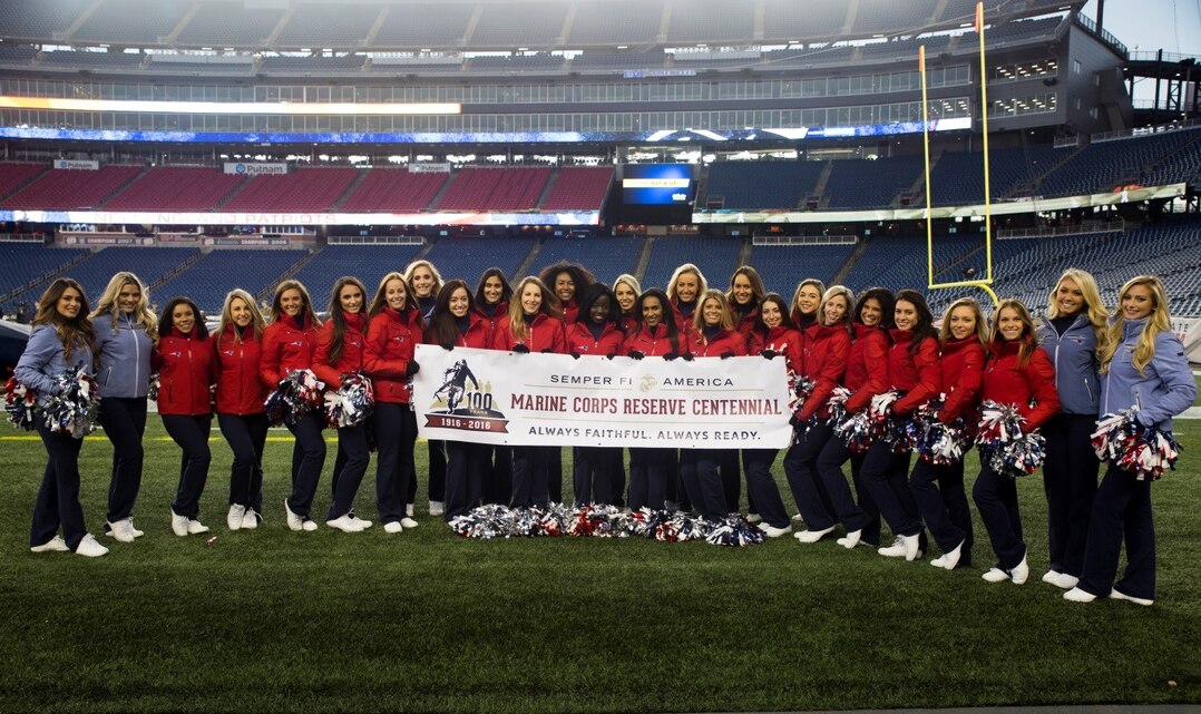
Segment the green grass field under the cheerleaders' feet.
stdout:
<svg viewBox="0 0 1201 714">
<path fill-rule="evenodd" d="M 749 548 L 468 541 L 424 514 L 424 482 L 416 530 L 292 533 L 281 506 L 286 432 L 268 443 L 265 524 L 231 533 L 229 451 L 214 433 L 202 520 L 216 540 L 207 545 L 171 534 L 179 452 L 155 415 L 136 514 L 145 538 L 102 538 L 113 551 L 97 559 L 32 554 L 44 452 L 5 428 L 0 712 L 1197 703 L 1196 425 L 1177 424 L 1182 468 L 1154 486 L 1159 589 L 1149 608 L 1069 604 L 1039 582 L 1047 559 L 1038 478 L 1020 485 L 1032 577 L 1016 587 L 980 580 L 992 557 L 979 523 L 975 566 L 954 572 L 791 538 Z M 110 455 L 101 434 L 83 450 L 84 512 L 97 534 Z M 333 449 L 315 514 L 328 505 L 331 466 Z M 372 474 L 358 499 L 368 518 Z"/>
</svg>

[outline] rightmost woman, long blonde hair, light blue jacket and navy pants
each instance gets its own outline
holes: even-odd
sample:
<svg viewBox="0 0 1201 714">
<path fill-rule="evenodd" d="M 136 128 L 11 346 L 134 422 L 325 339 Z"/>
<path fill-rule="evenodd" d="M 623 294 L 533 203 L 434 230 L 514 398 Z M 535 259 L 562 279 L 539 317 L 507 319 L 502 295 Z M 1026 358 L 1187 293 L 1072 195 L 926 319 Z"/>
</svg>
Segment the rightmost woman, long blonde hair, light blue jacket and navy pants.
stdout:
<svg viewBox="0 0 1201 714">
<path fill-rule="evenodd" d="M 1134 277 L 1118 293 L 1118 313 L 1100 354 L 1101 414 L 1136 408 L 1146 427 L 1172 431 L 1172 416 L 1193 406 L 1196 382 L 1184 346 L 1172 331 L 1167 295 L 1158 277 Z M 1064 599 L 1091 602 L 1109 595 L 1137 605 L 1155 601 L 1155 524 L 1151 478 L 1111 461 L 1093 500 L 1080 582 Z M 1116 583 L 1125 542 L 1127 566 Z"/>
</svg>

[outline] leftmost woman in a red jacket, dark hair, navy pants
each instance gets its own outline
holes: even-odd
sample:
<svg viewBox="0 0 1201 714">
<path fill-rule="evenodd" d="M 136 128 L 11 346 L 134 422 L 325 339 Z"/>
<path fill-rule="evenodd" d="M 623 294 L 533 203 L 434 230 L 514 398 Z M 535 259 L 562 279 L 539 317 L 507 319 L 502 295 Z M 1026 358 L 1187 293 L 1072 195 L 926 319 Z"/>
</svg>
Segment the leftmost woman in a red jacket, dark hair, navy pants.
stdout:
<svg viewBox="0 0 1201 714">
<path fill-rule="evenodd" d="M 183 450 L 179 488 L 171 504 L 171 529 L 175 535 L 208 533 L 197 516 L 201 493 L 209 478 L 209 430 L 213 426 L 213 383 L 216 359 L 213 338 L 201 310 L 187 298 L 167 302 L 159 317 L 161 329 L 154 364 L 159 371 L 159 415 L 172 440 Z"/>
</svg>

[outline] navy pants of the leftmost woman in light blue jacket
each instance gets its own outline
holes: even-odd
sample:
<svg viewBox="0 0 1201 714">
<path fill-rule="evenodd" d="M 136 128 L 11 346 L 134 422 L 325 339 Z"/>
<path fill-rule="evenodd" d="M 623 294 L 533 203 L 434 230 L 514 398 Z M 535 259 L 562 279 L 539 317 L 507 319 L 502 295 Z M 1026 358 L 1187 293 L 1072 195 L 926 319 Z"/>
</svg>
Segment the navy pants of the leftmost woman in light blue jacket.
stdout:
<svg viewBox="0 0 1201 714">
<path fill-rule="evenodd" d="M 58 534 L 61 526 L 62 540 L 73 551 L 79 547 L 83 536 L 88 535 L 83 506 L 79 504 L 79 449 L 83 439 L 52 432 L 43 419 L 37 419 L 35 426 L 46 446 L 47 460 L 42 485 L 37 488 L 37 499 L 34 502 L 29 546 L 44 545 Z"/>
</svg>

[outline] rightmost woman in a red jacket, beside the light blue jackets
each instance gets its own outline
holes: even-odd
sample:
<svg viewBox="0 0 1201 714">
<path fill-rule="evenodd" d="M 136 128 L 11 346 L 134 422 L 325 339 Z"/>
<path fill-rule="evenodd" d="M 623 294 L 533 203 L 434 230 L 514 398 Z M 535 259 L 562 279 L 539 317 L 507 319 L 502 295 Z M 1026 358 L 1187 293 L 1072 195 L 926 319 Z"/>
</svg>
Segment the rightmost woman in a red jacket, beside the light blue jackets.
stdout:
<svg viewBox="0 0 1201 714">
<path fill-rule="evenodd" d="M 1059 410 L 1054 367 L 1034 341 L 1034 320 L 1017 300 L 1002 300 L 992 319 L 990 358 L 984 368 L 981 401 L 1015 407 L 1029 433 Z M 980 475 L 972 488 L 980 520 L 988 532 L 997 564 L 984 574 L 987 582 L 1012 580 L 1022 584 L 1030 574 L 1022 540 L 1022 517 L 1017 509 L 1017 484 L 998 474 L 981 455 Z"/>
</svg>

